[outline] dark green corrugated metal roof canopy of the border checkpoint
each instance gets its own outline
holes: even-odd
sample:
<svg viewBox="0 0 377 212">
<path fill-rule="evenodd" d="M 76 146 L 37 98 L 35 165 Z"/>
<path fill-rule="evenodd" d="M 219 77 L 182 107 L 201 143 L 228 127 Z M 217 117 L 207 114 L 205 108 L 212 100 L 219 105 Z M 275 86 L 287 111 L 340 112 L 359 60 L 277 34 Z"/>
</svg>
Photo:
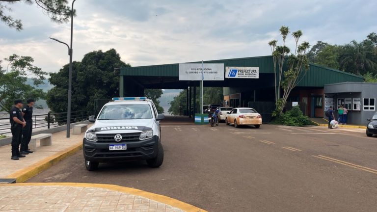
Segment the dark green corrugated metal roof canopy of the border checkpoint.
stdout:
<svg viewBox="0 0 377 212">
<path fill-rule="evenodd" d="M 201 63 L 201 61 L 193 62 Z M 204 61 L 204 63 L 224 63 L 227 66 L 259 67 L 259 79 L 227 79 L 224 81 L 204 81 L 205 87 L 273 87 L 272 56 L 245 57 Z M 179 81 L 179 64 L 151 65 L 139 67 L 125 67 L 120 69 L 120 76 L 124 76 L 124 83 L 134 81 L 143 88 L 185 89 L 188 86 L 198 86 L 197 81 Z M 224 70 L 225 73 L 225 70 Z M 121 81 L 123 81 L 121 79 Z M 298 84 L 300 87 L 323 87 L 324 84 L 346 81 L 362 82 L 360 76 L 343 71 L 310 64 L 309 71 Z"/>
</svg>

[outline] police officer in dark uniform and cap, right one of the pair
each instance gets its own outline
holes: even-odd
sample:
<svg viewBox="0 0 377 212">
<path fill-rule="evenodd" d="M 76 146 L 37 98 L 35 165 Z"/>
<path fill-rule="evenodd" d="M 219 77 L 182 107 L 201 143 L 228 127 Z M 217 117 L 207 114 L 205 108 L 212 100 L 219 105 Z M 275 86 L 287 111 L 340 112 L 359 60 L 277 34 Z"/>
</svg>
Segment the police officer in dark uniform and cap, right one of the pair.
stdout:
<svg viewBox="0 0 377 212">
<path fill-rule="evenodd" d="M 31 139 L 31 131 L 33 129 L 33 106 L 35 101 L 33 99 L 27 100 L 27 106 L 24 106 L 22 109 L 22 115 L 26 121 L 26 126 L 22 129 L 22 141 L 21 141 L 21 154 L 27 155 L 29 153 L 33 153 L 33 151 L 29 150 L 29 142 Z"/>
</svg>

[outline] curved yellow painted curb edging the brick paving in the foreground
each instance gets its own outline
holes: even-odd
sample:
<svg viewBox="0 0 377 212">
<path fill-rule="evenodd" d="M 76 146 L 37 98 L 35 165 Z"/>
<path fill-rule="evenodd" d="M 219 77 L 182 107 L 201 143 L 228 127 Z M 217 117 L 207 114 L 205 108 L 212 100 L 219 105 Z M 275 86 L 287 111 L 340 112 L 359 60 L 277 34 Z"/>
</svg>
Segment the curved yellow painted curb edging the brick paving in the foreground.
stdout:
<svg viewBox="0 0 377 212">
<path fill-rule="evenodd" d="M 173 206 L 175 208 L 179 208 L 186 212 L 207 212 L 203 209 L 197 208 L 195 206 L 189 205 L 187 203 L 181 202 L 177 199 L 173 199 L 167 196 L 163 196 L 160 194 L 155 194 L 135 188 L 130 187 L 123 187 L 119 185 L 106 185 L 106 184 L 85 184 L 85 183 L 21 183 L 21 184 L 4 184 L 0 186 L 43 186 L 43 185 L 60 185 L 60 186 L 75 186 L 75 187 L 96 187 L 96 188 L 104 188 L 114 191 L 119 191 L 123 193 L 129 193 L 136 196 L 145 197 L 166 205 Z"/>
</svg>

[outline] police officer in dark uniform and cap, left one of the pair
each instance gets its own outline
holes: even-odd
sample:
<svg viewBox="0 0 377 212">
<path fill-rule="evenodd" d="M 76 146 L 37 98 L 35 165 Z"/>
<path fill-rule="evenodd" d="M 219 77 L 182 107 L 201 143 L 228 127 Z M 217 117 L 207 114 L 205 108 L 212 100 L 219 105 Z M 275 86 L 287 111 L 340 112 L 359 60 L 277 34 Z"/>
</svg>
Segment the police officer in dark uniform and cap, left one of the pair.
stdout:
<svg viewBox="0 0 377 212">
<path fill-rule="evenodd" d="M 26 122 L 22 117 L 21 109 L 24 106 L 22 100 L 14 101 L 14 106 L 10 109 L 10 130 L 12 131 L 12 158 L 18 160 L 19 158 L 25 158 L 25 155 L 20 153 L 20 144 L 22 140 L 22 128 L 26 126 Z"/>
</svg>

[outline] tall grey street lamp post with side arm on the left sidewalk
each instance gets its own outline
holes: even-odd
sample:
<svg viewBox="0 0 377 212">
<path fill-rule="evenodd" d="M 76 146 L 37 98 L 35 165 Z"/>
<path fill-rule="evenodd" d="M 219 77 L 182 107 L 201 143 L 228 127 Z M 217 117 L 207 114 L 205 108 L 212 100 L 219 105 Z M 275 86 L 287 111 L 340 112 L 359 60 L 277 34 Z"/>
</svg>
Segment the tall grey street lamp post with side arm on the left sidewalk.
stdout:
<svg viewBox="0 0 377 212">
<path fill-rule="evenodd" d="M 67 108 L 67 138 L 70 137 L 70 131 L 71 131 L 71 99 L 72 99 L 72 38 L 73 38 L 73 4 L 75 3 L 76 0 L 72 1 L 72 7 L 71 7 L 71 46 L 68 46 L 68 44 L 59 41 L 58 39 L 55 38 L 50 38 L 53 39 L 54 41 L 57 41 L 59 43 L 65 44 L 68 47 L 68 54 L 69 54 L 69 74 L 68 74 L 68 108 Z"/>
</svg>

